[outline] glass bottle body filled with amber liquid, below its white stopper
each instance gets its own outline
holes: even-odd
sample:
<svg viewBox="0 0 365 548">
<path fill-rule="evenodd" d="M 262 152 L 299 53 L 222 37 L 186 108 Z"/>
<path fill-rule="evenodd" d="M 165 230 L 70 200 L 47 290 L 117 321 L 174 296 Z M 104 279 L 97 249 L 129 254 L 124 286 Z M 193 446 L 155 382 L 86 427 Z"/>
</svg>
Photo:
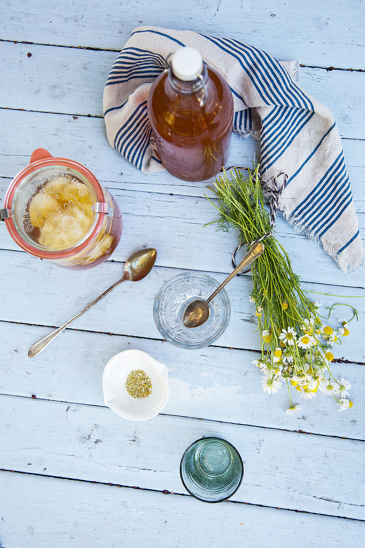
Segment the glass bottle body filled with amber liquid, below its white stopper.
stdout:
<svg viewBox="0 0 365 548">
<path fill-rule="evenodd" d="M 233 98 L 225 79 L 204 65 L 201 79 L 183 82 L 172 70 L 153 83 L 147 111 L 159 159 L 184 181 L 204 181 L 227 162 L 231 144 Z"/>
</svg>

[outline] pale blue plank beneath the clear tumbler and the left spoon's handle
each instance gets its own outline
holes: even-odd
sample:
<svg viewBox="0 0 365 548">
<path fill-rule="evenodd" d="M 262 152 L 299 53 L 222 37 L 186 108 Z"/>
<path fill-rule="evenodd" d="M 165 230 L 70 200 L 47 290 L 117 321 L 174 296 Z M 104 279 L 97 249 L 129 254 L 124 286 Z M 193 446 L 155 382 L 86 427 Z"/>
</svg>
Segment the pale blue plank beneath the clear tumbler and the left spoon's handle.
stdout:
<svg viewBox="0 0 365 548">
<path fill-rule="evenodd" d="M 142 242 L 153 245 L 150 237 L 144 236 Z M 134 250 L 139 247 L 135 246 Z M 2 264 L 6 265 L 6 268 L 0 272 L 4 296 L 0 319 L 5 321 L 45 326 L 62 324 L 82 310 L 87 302 L 95 298 L 95 295 L 111 286 L 122 273 L 121 264 L 118 262 L 109 261 L 95 269 L 75 272 L 60 269 L 47 261 L 38 261 L 25 253 L 9 251 L 0 253 Z M 179 269 L 155 267 L 151 275 L 138 284 L 125 283 L 113 294 L 106 296 L 92 310 L 78 318 L 73 323 L 73 327 L 161 339 L 153 322 L 153 300 L 163 283 L 180 272 Z M 214 276 L 219 282 L 225 277 L 222 274 Z M 15 283 L 18 280 L 21 280 L 21 283 Z M 256 327 L 254 306 L 248 299 L 250 283 L 250 279 L 246 276 L 236 277 L 227 287 L 232 307 L 230 325 L 215 345 L 241 349 L 259 347 L 259 335 L 253 333 Z M 364 298 L 346 298 L 349 293 L 354 296 L 363 296 L 363 289 L 352 288 L 350 291 L 347 287 L 308 283 L 304 283 L 303 288 L 322 293 L 329 291 L 340 295 L 335 298 L 328 295 L 321 296 L 323 307 L 338 301 L 351 302 L 356 305 L 360 317 L 365 313 Z M 317 297 L 318 295 L 313 295 L 313 298 Z M 344 313 L 343 310 L 338 310 Z M 337 317 L 339 316 L 334 316 L 335 322 Z M 363 337 L 363 322 L 352 323 L 351 336 L 344 340 L 341 347 L 334 349 L 335 357 L 345 356 L 347 359 L 364 362 Z M 179 352 L 182 351 L 179 350 Z"/>
</svg>

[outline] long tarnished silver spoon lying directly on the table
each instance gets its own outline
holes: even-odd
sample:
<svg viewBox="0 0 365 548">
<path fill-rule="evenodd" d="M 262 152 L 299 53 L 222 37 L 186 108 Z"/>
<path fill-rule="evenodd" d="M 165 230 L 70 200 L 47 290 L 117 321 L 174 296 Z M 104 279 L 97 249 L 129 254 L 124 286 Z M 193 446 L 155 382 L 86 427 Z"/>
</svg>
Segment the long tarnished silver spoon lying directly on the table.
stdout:
<svg viewBox="0 0 365 548">
<path fill-rule="evenodd" d="M 28 352 L 28 357 L 33 358 L 34 356 L 37 356 L 37 354 L 39 354 L 39 352 L 42 352 L 42 350 L 44 350 L 45 347 L 48 346 L 49 343 L 57 335 L 62 333 L 62 331 L 66 329 L 66 327 L 69 327 L 70 323 L 72 323 L 74 319 L 78 318 L 84 312 L 89 310 L 92 306 L 94 306 L 94 304 L 96 304 L 96 302 L 99 302 L 100 299 L 102 299 L 103 297 L 105 297 L 105 295 L 118 287 L 122 282 L 139 282 L 142 278 L 147 276 L 147 274 L 151 271 L 153 265 L 155 264 L 156 257 L 157 251 L 153 248 L 141 249 L 140 251 L 131 255 L 124 264 L 123 278 L 119 279 L 116 283 L 113 283 L 113 285 L 106 289 L 104 293 L 101 293 L 101 295 L 96 297 L 96 299 L 94 299 L 87 306 L 85 306 L 85 308 L 81 310 L 81 312 L 78 312 L 76 316 L 73 316 L 73 318 L 69 319 L 68 322 L 64 323 L 63 326 L 55 329 L 53 333 L 50 333 L 49 335 L 38 341 L 38 343 L 34 344 Z"/>
</svg>

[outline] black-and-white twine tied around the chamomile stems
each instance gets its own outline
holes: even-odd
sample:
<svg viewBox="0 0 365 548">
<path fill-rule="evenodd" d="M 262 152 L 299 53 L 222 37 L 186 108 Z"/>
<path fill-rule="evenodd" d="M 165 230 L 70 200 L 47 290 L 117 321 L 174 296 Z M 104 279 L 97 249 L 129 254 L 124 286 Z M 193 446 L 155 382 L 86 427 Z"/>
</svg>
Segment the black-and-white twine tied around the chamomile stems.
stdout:
<svg viewBox="0 0 365 548">
<path fill-rule="evenodd" d="M 220 173 L 223 173 L 223 170 L 229 170 L 229 169 L 246 169 L 247 170 L 247 168 L 244 168 L 241 165 L 231 165 L 229 168 L 222 168 L 220 170 Z M 269 179 L 268 181 L 263 181 L 260 177 L 260 173 L 258 175 L 259 175 L 261 185 L 263 187 L 263 191 L 264 191 L 266 197 L 269 199 L 269 203 L 270 203 L 270 226 L 272 227 L 273 225 L 275 225 L 276 210 L 277 210 L 277 207 L 279 205 L 280 195 L 281 195 L 282 191 L 284 190 L 284 188 L 287 186 L 288 175 L 287 175 L 287 173 L 281 172 L 281 173 L 278 173 L 277 175 L 275 175 L 275 177 L 272 177 L 271 179 Z M 279 184 L 278 181 L 277 181 L 279 177 L 283 177 L 283 181 L 282 181 L 281 184 Z M 238 246 L 236 247 L 236 249 L 232 253 L 232 266 L 233 266 L 233 268 L 236 268 L 236 260 L 235 260 L 236 259 L 236 253 L 238 252 L 239 249 L 241 249 L 242 246 L 246 246 L 246 249 L 250 248 L 250 247 L 253 246 L 254 243 L 262 242 L 265 238 L 269 238 L 269 236 L 271 236 L 271 235 L 272 235 L 272 232 L 270 230 L 270 232 L 267 232 L 267 234 L 265 234 L 264 236 L 261 236 L 260 238 L 257 238 L 257 239 L 253 240 L 250 243 L 242 242 L 242 243 L 238 244 Z M 251 270 L 251 267 L 249 267 L 247 270 L 242 270 L 241 272 L 238 272 L 237 276 L 242 276 L 243 274 L 247 274 L 250 270 Z"/>
</svg>

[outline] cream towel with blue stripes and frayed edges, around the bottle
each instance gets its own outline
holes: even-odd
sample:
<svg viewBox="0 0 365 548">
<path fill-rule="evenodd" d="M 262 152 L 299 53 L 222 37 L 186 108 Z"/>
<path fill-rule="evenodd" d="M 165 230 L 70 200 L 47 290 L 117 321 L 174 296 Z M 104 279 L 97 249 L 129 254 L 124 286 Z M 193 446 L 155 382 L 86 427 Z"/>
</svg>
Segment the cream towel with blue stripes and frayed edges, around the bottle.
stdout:
<svg viewBox="0 0 365 548">
<path fill-rule="evenodd" d="M 142 172 L 163 169 L 147 97 L 165 68 L 164 59 L 183 45 L 198 49 L 229 83 L 233 130 L 260 139 L 263 179 L 288 174 L 279 203 L 287 220 L 321 242 L 342 270 L 356 270 L 365 252 L 339 133 L 332 113 L 296 84 L 297 61 L 279 62 L 233 39 L 138 27 L 113 64 L 104 90 L 110 145 Z"/>
</svg>

